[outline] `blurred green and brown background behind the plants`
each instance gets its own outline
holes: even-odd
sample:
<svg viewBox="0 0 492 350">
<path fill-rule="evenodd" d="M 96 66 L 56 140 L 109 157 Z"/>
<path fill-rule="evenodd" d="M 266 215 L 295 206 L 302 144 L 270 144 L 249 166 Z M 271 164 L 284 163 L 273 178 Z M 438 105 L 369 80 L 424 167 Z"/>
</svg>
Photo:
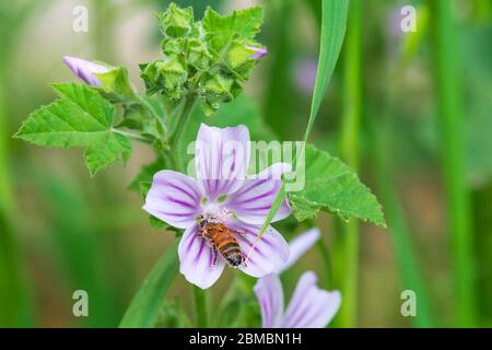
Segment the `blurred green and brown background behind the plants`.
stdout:
<svg viewBox="0 0 492 350">
<path fill-rule="evenodd" d="M 279 138 L 301 139 L 316 74 L 320 1 L 176 2 L 192 4 L 197 18 L 207 4 L 223 12 L 265 5 L 259 42 L 269 55 L 245 94 Z M 449 0 L 449 16 L 440 19 L 436 2 L 351 3 L 348 36 L 312 139 L 358 168 L 382 201 L 388 229 L 347 228 L 328 214 L 281 225 L 289 237 L 318 225 L 330 252 L 311 250 L 284 277 L 288 294 L 307 269 L 318 272 L 323 287 L 337 288 L 345 271 L 337 246 L 355 230 L 355 319 L 333 326 L 492 326 L 492 5 Z M 87 33 L 72 31 L 80 4 L 89 9 Z M 403 4 L 417 8 L 415 33 L 400 30 Z M 127 167 L 116 164 L 90 178 L 81 150 L 42 149 L 12 138 L 32 110 L 54 100 L 50 82 L 74 80 L 63 55 L 126 66 L 141 89 L 138 63 L 160 55 L 153 13 L 166 5 L 0 2 L 0 326 L 117 326 L 174 241 L 149 225 L 141 197 L 127 188 L 152 160 L 148 149 L 136 144 Z M 470 278 L 465 294 L 457 291 L 460 268 Z M 210 291 L 212 305 L 235 275 L 229 270 Z M 408 285 L 417 285 L 418 313 L 425 304 L 423 318 L 400 313 Z M 72 315 L 79 289 L 89 292 L 86 318 Z M 181 276 L 168 299 L 183 305 L 175 325 L 190 325 L 184 314 L 192 324 L 191 291 Z"/>
</svg>

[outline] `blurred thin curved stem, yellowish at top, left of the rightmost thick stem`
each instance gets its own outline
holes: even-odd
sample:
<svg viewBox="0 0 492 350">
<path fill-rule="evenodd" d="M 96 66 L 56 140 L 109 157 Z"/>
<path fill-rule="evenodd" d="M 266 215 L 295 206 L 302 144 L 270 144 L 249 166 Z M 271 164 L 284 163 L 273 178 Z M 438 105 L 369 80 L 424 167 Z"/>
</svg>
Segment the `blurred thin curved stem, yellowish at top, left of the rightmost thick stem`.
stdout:
<svg viewBox="0 0 492 350">
<path fill-rule="evenodd" d="M 400 52 L 396 60 L 388 60 L 387 78 L 384 83 L 385 100 L 377 107 L 372 106 L 368 120 L 370 150 L 373 160 L 374 175 L 378 185 L 383 207 L 388 222 L 388 233 L 391 238 L 395 261 L 401 280 L 401 291 L 411 290 L 418 298 L 417 316 L 409 317 L 415 327 L 434 327 L 431 299 L 425 288 L 425 280 L 419 266 L 418 257 L 412 242 L 412 231 L 408 223 L 406 212 L 401 207 L 395 183 L 393 144 L 394 136 L 398 137 L 398 130 L 394 128 L 391 120 L 396 114 L 391 109 L 397 106 L 397 97 L 401 95 L 400 78 L 408 70 L 415 51 L 421 43 L 421 37 L 426 34 L 427 9 L 422 5 L 418 10 L 418 28 L 415 33 L 407 33 L 401 43 Z M 378 58 L 379 59 L 379 58 Z M 371 62 L 368 63 L 371 65 Z M 380 96 L 380 92 L 372 92 Z M 371 98 L 368 101 L 376 101 Z M 374 95 L 375 97 L 376 95 Z M 367 107 L 366 107 L 367 108 Z M 376 109 L 377 108 L 377 109 Z M 377 115 L 376 112 L 377 110 Z"/>
</svg>

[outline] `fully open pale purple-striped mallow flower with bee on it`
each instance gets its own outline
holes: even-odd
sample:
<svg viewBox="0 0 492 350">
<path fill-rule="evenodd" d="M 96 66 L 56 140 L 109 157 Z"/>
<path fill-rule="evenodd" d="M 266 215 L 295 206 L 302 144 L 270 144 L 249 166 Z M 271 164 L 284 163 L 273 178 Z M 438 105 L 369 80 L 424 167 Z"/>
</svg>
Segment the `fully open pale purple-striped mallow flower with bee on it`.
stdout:
<svg viewBox="0 0 492 350">
<path fill-rule="evenodd" d="M 196 141 L 196 178 L 174 171 L 153 177 L 143 209 L 184 234 L 178 246 L 179 271 L 202 289 L 211 287 L 227 264 L 210 241 L 201 235 L 203 220 L 230 230 L 245 261 L 237 268 L 260 278 L 280 268 L 289 258 L 289 245 L 273 228 L 256 242 L 272 202 L 282 185 L 281 174 L 290 164 L 277 163 L 255 176 L 247 176 L 249 131 L 241 125 L 230 128 L 200 126 Z M 286 200 L 273 222 L 286 218 Z"/>
</svg>

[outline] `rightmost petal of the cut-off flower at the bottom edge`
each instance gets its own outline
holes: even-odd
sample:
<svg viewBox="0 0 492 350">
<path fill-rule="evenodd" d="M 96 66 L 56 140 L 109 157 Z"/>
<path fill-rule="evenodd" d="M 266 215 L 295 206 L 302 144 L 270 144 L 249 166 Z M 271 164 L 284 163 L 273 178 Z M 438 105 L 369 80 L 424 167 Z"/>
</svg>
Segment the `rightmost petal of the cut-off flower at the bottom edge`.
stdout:
<svg viewBox="0 0 492 350">
<path fill-rule="evenodd" d="M 316 275 L 305 272 L 283 317 L 282 328 L 325 327 L 340 307 L 340 292 L 328 292 L 316 285 Z"/>
</svg>

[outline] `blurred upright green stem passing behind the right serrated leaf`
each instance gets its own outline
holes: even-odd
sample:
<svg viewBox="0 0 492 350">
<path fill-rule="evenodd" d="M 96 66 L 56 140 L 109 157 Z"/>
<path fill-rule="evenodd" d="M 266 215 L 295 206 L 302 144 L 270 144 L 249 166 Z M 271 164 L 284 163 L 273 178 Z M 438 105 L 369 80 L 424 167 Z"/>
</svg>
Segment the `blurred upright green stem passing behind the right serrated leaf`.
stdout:
<svg viewBox="0 0 492 350">
<path fill-rule="evenodd" d="M 361 20 L 362 1 L 350 3 L 344 55 L 343 118 L 341 155 L 354 170 L 359 168 L 359 129 L 361 118 Z M 337 261 L 338 281 L 343 295 L 338 320 L 342 327 L 356 326 L 359 279 L 359 223 L 340 224 L 341 259 Z"/>
</svg>

